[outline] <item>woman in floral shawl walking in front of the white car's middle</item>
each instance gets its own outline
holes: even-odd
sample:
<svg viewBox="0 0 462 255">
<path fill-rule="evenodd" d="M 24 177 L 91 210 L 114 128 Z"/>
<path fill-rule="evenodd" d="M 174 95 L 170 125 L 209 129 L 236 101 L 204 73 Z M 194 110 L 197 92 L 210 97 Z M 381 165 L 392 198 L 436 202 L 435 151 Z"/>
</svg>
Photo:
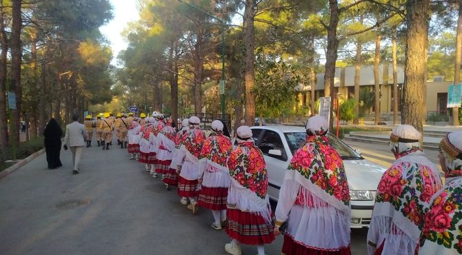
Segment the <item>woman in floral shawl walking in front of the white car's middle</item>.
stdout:
<svg viewBox="0 0 462 255">
<path fill-rule="evenodd" d="M 312 116 L 306 143 L 285 172 L 276 207 L 285 255 L 350 255 L 350 190 L 339 153 L 329 145 L 328 121 Z"/>
</svg>

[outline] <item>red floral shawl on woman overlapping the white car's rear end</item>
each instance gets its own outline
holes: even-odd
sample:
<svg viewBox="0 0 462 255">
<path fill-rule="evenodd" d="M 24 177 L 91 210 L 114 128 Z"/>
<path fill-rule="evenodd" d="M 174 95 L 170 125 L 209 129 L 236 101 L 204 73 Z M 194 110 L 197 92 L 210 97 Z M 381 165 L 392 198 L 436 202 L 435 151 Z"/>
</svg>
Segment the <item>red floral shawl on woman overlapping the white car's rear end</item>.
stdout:
<svg viewBox="0 0 462 255">
<path fill-rule="evenodd" d="M 253 141 L 238 143 L 228 159 L 230 176 L 262 199 L 268 192 L 268 172 L 265 167 L 263 154 Z"/>
</svg>

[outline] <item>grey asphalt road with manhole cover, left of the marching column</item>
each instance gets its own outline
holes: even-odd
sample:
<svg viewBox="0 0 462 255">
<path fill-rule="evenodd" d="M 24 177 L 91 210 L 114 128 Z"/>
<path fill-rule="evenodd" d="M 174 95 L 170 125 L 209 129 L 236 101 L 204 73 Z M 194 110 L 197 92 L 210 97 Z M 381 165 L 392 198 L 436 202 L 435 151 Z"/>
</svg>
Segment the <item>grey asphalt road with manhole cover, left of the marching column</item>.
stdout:
<svg viewBox="0 0 462 255">
<path fill-rule="evenodd" d="M 42 154 L 0 180 L 0 254 L 226 254 L 229 238 L 212 230 L 211 213 L 193 216 L 176 190 L 165 190 L 125 150 L 85 149 L 78 175 L 69 151 L 61 160 L 63 167 L 47 170 Z M 56 209 L 72 199 L 90 203 Z M 352 230 L 352 254 L 366 254 L 366 234 Z M 281 246 L 279 236 L 266 253 L 281 254 Z"/>
</svg>

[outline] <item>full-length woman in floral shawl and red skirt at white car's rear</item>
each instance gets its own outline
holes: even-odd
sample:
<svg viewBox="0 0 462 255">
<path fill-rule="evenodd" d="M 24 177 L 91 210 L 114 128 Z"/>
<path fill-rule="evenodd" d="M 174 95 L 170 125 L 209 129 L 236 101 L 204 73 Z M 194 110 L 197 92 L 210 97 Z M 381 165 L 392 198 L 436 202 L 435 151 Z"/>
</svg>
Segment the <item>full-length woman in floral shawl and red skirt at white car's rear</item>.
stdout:
<svg viewBox="0 0 462 255">
<path fill-rule="evenodd" d="M 257 245 L 259 255 L 274 241 L 274 216 L 268 198 L 268 172 L 261 150 L 254 145 L 252 130 L 237 129 L 237 147 L 228 158 L 231 176 L 226 211 L 226 233 L 232 238 L 225 251 L 241 254 L 241 244 Z"/>
</svg>

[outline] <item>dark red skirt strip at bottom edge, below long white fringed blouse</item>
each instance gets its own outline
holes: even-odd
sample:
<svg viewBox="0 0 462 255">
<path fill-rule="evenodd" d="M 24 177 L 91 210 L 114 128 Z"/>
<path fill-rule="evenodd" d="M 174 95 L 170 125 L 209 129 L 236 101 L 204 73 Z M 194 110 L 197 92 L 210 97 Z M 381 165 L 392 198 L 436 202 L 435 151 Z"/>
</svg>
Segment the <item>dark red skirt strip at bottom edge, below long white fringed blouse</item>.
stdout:
<svg viewBox="0 0 462 255">
<path fill-rule="evenodd" d="M 301 243 L 294 241 L 292 236 L 284 235 L 284 243 L 282 245 L 282 254 L 284 255 L 351 255 L 350 246 L 341 247 L 337 251 L 316 249 L 314 247 L 306 247 Z"/>
</svg>

